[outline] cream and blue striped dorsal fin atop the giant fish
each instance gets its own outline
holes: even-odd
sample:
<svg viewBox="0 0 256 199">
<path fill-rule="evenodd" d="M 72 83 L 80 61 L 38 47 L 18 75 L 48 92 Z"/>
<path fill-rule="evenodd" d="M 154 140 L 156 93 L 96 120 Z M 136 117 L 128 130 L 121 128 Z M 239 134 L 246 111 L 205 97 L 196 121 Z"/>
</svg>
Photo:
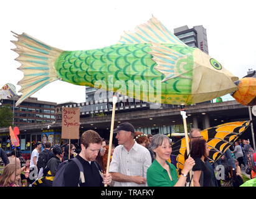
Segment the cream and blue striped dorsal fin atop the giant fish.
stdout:
<svg viewBox="0 0 256 199">
<path fill-rule="evenodd" d="M 138 25 L 133 32 L 125 32 L 119 40 L 120 44 L 140 44 L 151 42 L 158 44 L 186 45 L 166 29 L 166 27 L 164 27 L 156 17 L 149 19 L 146 24 Z"/>
</svg>

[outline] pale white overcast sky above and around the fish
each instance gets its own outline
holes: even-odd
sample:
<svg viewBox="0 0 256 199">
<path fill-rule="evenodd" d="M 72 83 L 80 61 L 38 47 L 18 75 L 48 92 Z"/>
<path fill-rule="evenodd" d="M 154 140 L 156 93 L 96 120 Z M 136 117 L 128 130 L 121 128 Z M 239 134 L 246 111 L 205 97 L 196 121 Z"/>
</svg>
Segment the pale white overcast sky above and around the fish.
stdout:
<svg viewBox="0 0 256 199">
<path fill-rule="evenodd" d="M 62 50 L 89 50 L 116 44 L 124 30 L 133 30 L 152 14 L 171 32 L 176 27 L 203 25 L 209 55 L 239 78 L 256 70 L 256 2 L 243 1 L 0 1 L 0 88 L 17 82 L 17 53 L 11 30 Z M 19 93 L 21 94 L 21 93 Z M 42 101 L 85 101 L 83 86 L 54 81 L 34 95 Z"/>
</svg>

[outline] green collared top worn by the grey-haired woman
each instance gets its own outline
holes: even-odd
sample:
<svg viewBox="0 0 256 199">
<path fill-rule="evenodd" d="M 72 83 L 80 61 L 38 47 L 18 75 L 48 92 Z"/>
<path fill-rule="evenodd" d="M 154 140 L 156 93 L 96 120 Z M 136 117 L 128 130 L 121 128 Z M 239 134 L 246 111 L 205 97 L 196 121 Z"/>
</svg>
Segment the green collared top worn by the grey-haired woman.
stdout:
<svg viewBox="0 0 256 199">
<path fill-rule="evenodd" d="M 146 172 L 148 187 L 173 187 L 178 182 L 176 168 L 173 164 L 167 161 L 166 163 L 169 165 L 173 181 L 169 178 L 167 170 L 164 169 L 157 160 L 154 160 Z"/>
</svg>

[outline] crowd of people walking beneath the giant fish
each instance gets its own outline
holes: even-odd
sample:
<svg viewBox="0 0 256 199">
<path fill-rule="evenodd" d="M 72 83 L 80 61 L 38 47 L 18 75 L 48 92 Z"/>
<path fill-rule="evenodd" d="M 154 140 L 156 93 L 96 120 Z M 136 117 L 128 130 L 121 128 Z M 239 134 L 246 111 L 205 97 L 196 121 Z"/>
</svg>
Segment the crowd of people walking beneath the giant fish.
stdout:
<svg viewBox="0 0 256 199">
<path fill-rule="evenodd" d="M 211 164 L 210 149 L 200 129 L 191 129 L 191 150 L 185 155 L 183 170 L 177 172 L 168 136 L 143 134 L 130 123 L 119 124 L 113 133 L 118 146 L 111 145 L 109 172 L 109 141 L 93 130 L 83 132 L 80 150 L 75 144 L 51 146 L 49 142 L 42 150 L 42 143 L 37 142 L 30 160 L 16 150 L 7 157 L 0 148 L 5 165 L 0 187 L 239 187 L 244 183 L 242 170 L 256 179 L 251 160 L 254 149 L 247 140 L 235 142 Z M 218 165 L 224 168 L 224 178 L 216 177 Z"/>
</svg>

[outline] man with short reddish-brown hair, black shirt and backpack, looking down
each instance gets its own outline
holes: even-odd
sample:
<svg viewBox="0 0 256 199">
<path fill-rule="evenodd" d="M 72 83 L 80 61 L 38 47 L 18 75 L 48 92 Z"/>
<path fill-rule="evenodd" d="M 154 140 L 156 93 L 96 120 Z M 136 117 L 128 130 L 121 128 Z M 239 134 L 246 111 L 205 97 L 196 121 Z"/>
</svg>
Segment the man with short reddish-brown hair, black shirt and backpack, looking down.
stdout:
<svg viewBox="0 0 256 199">
<path fill-rule="evenodd" d="M 95 159 L 102 147 L 102 137 L 93 131 L 83 132 L 81 139 L 81 152 L 75 159 L 78 159 L 83 167 L 83 176 L 74 160 L 65 166 L 64 184 L 65 187 L 103 187 L 103 184 L 110 185 L 111 174 L 103 174 L 102 168 L 95 162 Z"/>
</svg>

